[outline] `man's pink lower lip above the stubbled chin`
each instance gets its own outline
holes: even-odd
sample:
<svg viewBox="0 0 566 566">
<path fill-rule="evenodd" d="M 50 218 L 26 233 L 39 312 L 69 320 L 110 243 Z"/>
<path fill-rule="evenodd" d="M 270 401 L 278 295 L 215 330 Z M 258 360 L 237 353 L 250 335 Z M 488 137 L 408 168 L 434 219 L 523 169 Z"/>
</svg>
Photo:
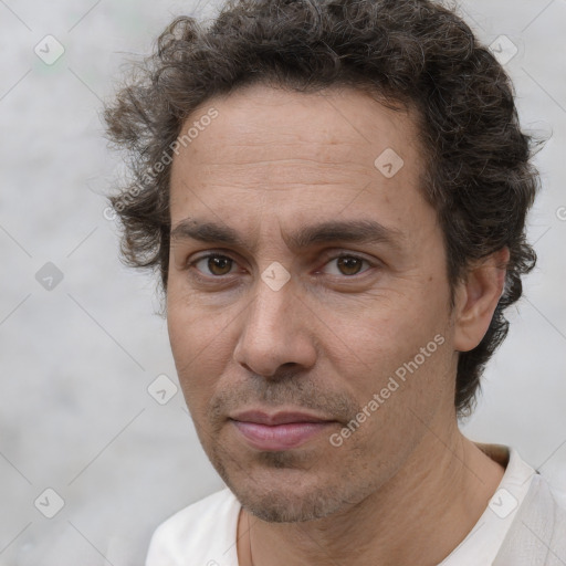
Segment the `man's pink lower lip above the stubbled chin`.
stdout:
<svg viewBox="0 0 566 566">
<path fill-rule="evenodd" d="M 326 431 L 334 422 L 290 422 L 289 424 L 258 424 L 232 420 L 248 442 L 259 450 L 286 450 L 304 444 Z"/>
</svg>

